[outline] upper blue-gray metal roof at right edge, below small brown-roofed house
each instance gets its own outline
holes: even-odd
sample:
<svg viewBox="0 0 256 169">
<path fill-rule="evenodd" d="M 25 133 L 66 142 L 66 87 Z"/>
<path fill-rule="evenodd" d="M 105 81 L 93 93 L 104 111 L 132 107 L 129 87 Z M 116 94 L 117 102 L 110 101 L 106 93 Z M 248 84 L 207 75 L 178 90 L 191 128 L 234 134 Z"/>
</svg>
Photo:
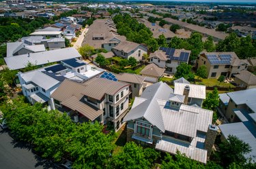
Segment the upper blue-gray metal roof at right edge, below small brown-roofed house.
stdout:
<svg viewBox="0 0 256 169">
<path fill-rule="evenodd" d="M 227 95 L 236 103 L 236 105 L 246 104 L 252 111 L 256 113 L 256 88 L 241 90 L 238 92 L 230 92 Z"/>
</svg>

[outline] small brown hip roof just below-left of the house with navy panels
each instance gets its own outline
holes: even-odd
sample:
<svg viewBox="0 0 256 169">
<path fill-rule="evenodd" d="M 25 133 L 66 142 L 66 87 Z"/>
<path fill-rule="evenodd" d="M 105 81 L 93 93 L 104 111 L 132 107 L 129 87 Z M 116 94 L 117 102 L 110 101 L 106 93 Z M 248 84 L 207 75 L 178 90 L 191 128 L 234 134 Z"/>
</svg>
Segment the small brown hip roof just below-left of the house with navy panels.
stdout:
<svg viewBox="0 0 256 169">
<path fill-rule="evenodd" d="M 141 71 L 142 75 L 150 75 L 155 77 L 161 77 L 165 69 L 158 67 L 156 64 L 147 64 L 147 66 Z"/>
</svg>

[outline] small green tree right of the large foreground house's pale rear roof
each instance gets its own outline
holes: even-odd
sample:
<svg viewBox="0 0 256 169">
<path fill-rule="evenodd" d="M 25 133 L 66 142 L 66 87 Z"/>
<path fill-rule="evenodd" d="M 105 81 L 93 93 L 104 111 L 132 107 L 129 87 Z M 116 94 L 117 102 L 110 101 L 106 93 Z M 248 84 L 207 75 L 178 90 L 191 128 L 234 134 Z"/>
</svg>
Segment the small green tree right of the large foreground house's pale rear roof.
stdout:
<svg viewBox="0 0 256 169">
<path fill-rule="evenodd" d="M 203 109 L 214 111 L 218 107 L 218 90 L 214 88 L 212 92 L 209 92 L 203 101 Z"/>
</svg>

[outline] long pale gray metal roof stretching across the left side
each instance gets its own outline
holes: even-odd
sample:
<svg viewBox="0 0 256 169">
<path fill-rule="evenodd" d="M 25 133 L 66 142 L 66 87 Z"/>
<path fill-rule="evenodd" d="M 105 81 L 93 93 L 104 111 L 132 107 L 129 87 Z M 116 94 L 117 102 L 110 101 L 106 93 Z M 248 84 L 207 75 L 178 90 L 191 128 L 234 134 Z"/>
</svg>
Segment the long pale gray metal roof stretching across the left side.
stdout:
<svg viewBox="0 0 256 169">
<path fill-rule="evenodd" d="M 79 54 L 76 49 L 63 48 L 59 50 L 49 50 L 45 52 L 6 57 L 4 59 L 9 69 L 16 70 L 25 68 L 29 62 L 36 65 L 42 65 L 49 62 L 59 62 L 61 60 L 79 57 L 81 57 L 81 54 Z"/>
</svg>

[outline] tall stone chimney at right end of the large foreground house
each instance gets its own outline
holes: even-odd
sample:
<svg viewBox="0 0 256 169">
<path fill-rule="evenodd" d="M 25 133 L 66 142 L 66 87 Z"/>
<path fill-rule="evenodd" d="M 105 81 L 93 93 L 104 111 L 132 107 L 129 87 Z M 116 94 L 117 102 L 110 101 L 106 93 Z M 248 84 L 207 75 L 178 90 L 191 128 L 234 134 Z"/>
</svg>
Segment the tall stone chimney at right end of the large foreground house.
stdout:
<svg viewBox="0 0 256 169">
<path fill-rule="evenodd" d="M 212 153 L 212 146 L 214 145 L 215 138 L 218 134 L 218 127 L 216 125 L 209 125 L 208 131 L 205 137 L 204 149 L 207 150 L 207 157 L 210 157 Z"/>
</svg>

